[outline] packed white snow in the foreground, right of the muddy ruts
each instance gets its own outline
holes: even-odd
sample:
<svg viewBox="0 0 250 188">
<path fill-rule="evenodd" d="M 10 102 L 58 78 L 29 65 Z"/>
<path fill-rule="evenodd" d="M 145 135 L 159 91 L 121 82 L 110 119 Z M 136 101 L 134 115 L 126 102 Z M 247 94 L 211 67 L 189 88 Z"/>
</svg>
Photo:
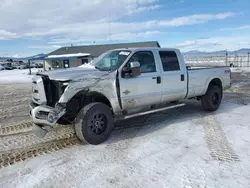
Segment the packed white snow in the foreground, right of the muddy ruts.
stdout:
<svg viewBox="0 0 250 188">
<path fill-rule="evenodd" d="M 250 106 L 204 113 L 189 105 L 116 130 L 104 144 L 1 169 L 0 187 L 249 187 Z"/>
</svg>

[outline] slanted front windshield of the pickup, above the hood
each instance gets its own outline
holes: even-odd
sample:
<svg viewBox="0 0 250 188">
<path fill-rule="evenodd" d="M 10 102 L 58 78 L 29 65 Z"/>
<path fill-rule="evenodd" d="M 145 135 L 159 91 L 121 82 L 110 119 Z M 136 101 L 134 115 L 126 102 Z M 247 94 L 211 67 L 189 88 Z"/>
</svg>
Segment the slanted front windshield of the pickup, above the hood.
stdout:
<svg viewBox="0 0 250 188">
<path fill-rule="evenodd" d="M 100 71 L 116 70 L 129 56 L 129 50 L 109 51 L 91 62 Z"/>
</svg>

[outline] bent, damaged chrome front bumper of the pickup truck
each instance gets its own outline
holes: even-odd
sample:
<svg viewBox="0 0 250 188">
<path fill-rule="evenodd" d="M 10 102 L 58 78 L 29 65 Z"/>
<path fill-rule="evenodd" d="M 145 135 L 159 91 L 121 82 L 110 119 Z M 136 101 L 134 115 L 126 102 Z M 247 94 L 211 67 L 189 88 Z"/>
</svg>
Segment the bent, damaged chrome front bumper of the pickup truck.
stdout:
<svg viewBox="0 0 250 188">
<path fill-rule="evenodd" d="M 33 101 L 29 103 L 30 116 L 34 123 L 33 131 L 38 137 L 44 137 L 49 129 L 66 113 L 64 108 L 53 108 L 47 105 L 37 106 Z"/>
</svg>

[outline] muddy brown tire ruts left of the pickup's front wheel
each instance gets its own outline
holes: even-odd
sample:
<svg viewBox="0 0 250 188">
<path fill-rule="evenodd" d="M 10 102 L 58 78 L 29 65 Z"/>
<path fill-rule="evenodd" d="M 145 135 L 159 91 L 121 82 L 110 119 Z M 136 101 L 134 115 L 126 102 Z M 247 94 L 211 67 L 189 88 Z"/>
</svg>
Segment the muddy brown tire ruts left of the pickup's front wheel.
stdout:
<svg viewBox="0 0 250 188">
<path fill-rule="evenodd" d="M 0 128 L 0 168 L 79 144 L 71 125 L 58 125 L 42 139 L 31 127 L 25 122 Z"/>
</svg>

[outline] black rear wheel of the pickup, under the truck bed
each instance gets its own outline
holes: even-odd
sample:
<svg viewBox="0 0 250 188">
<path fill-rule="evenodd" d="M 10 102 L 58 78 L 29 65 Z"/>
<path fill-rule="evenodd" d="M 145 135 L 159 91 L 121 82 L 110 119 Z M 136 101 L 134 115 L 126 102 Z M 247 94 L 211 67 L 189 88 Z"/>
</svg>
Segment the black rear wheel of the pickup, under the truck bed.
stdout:
<svg viewBox="0 0 250 188">
<path fill-rule="evenodd" d="M 219 86 L 211 85 L 207 92 L 201 97 L 201 105 L 207 111 L 216 111 L 222 100 L 222 89 Z"/>
</svg>

